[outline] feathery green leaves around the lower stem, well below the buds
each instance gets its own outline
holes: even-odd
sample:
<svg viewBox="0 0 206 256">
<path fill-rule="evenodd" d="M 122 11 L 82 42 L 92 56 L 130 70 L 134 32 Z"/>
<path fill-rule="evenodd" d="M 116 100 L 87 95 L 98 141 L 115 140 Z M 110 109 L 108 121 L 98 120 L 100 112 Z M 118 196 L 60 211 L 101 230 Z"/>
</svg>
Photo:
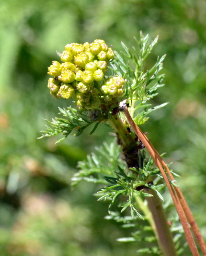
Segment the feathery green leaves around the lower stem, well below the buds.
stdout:
<svg viewBox="0 0 206 256">
<path fill-rule="evenodd" d="M 130 237 L 118 238 L 117 240 L 119 242 L 139 243 L 141 249 L 138 250 L 138 253 L 161 256 L 151 223 L 148 216 L 142 211 L 142 205 L 145 205 L 144 198 L 151 196 L 151 194 L 141 190 L 142 186 L 155 190 L 161 200 L 163 200 L 161 194 L 165 191 L 165 186 L 161 182 L 163 177 L 159 170 L 154 167 L 153 160 L 151 158 L 146 160 L 145 158 L 141 169 L 130 168 L 126 170 L 125 162 L 120 157 L 121 149 L 116 140 L 111 144 L 104 142 L 103 146 L 96 147 L 95 150 L 96 152 L 88 155 L 86 160 L 78 162 L 80 170 L 72 178 L 73 185 L 75 186 L 82 180 L 104 185 L 104 188 L 101 188 L 95 195 L 99 201 L 106 200 L 109 202 L 109 215 L 105 218 L 122 223 L 122 228 L 131 230 Z M 175 173 L 173 172 L 173 174 Z M 149 185 L 147 177 L 151 176 L 155 178 L 153 183 Z M 140 202 L 142 202 L 141 205 Z M 117 206 L 120 208 L 119 211 L 116 210 Z M 170 204 L 168 203 L 164 206 L 165 210 L 169 207 Z M 172 217 L 169 221 L 172 223 L 171 232 L 174 234 L 174 242 L 179 255 L 186 246 L 186 244 L 182 245 L 181 243 L 184 232 L 179 224 L 178 216 Z M 150 243 L 149 247 L 148 242 Z M 145 247 L 142 248 L 142 246 Z"/>
</svg>

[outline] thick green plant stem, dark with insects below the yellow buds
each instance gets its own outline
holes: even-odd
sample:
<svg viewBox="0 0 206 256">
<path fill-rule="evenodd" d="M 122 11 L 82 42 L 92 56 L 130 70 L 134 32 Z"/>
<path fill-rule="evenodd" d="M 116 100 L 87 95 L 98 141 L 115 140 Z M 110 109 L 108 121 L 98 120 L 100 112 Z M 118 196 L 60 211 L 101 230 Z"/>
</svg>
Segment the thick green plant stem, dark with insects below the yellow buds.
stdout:
<svg viewBox="0 0 206 256">
<path fill-rule="evenodd" d="M 135 137 L 133 132 L 128 132 L 129 125 L 126 121 L 120 118 L 119 114 L 112 115 L 109 122 L 114 132 L 116 132 L 118 143 L 122 146 L 122 151 L 128 168 L 136 167 L 138 169 L 139 148 L 137 140 L 135 140 L 137 137 Z M 148 208 L 146 209 L 143 205 L 140 205 L 141 210 L 146 214 L 146 217 L 153 228 L 163 256 L 176 256 L 175 244 L 173 242 L 173 237 L 167 223 L 167 218 L 165 216 L 161 200 L 154 190 L 149 188 L 145 188 L 145 190 L 146 193 L 153 195 L 152 197 L 147 197 L 147 203 L 152 217 L 148 213 Z"/>
</svg>

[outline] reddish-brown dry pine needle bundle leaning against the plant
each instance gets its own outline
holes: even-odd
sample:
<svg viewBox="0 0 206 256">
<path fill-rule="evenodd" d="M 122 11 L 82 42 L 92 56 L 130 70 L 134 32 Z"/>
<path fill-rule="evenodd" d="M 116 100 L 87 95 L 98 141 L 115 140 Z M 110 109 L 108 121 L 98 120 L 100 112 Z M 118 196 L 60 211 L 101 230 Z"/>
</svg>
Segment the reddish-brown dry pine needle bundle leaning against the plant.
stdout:
<svg viewBox="0 0 206 256">
<path fill-rule="evenodd" d="M 134 132 L 137 134 L 138 138 L 141 140 L 141 142 L 144 144 L 145 148 L 153 158 L 155 164 L 159 168 L 161 174 L 163 175 L 163 178 L 168 186 L 169 192 L 172 196 L 173 202 L 175 204 L 175 208 L 178 212 L 178 215 L 180 217 L 180 221 L 182 223 L 182 227 L 185 232 L 186 239 L 188 241 L 188 244 L 190 246 L 190 250 L 194 256 L 199 256 L 196 244 L 194 242 L 194 239 L 192 237 L 192 233 L 190 231 L 190 227 L 188 225 L 188 222 L 190 223 L 191 229 L 196 237 L 196 240 L 198 244 L 200 245 L 200 249 L 202 250 L 204 256 L 206 256 L 206 245 L 204 243 L 204 240 L 200 234 L 200 230 L 198 229 L 198 226 L 194 220 L 194 217 L 192 215 L 192 212 L 190 211 L 184 196 L 182 195 L 182 192 L 180 191 L 180 188 L 177 186 L 172 186 L 171 182 L 167 178 L 167 175 L 165 174 L 165 171 L 163 170 L 163 167 L 165 168 L 167 174 L 169 175 L 169 178 L 171 181 L 175 181 L 173 178 L 173 175 L 171 174 L 169 168 L 157 152 L 157 150 L 154 148 L 154 146 L 151 144 L 151 142 L 148 140 L 147 136 L 139 129 L 139 127 L 133 122 L 133 119 L 131 118 L 128 108 L 125 105 L 124 107 L 121 107 L 126 118 L 128 119 L 129 124 L 133 128 Z M 163 167 L 162 167 L 163 166 Z"/>
</svg>

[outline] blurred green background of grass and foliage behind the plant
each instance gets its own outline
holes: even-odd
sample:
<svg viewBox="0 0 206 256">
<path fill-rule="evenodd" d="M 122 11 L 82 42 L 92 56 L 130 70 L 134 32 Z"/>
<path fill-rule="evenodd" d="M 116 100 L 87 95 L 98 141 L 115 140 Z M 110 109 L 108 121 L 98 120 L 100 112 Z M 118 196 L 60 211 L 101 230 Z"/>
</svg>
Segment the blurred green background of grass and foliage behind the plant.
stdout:
<svg viewBox="0 0 206 256">
<path fill-rule="evenodd" d="M 142 129 L 173 162 L 183 194 L 206 239 L 206 2 L 204 0 L 2 0 L 0 2 L 0 255 L 125 256 L 138 243 L 117 238 L 128 230 L 104 219 L 97 186 L 71 190 L 77 162 L 112 140 L 99 126 L 92 136 L 37 140 L 43 118 L 58 106 L 47 89 L 47 67 L 68 43 L 103 39 L 115 50 L 139 31 L 154 39 L 150 61 L 167 54 L 165 87 Z M 190 255 L 185 252 L 184 255 Z"/>
</svg>

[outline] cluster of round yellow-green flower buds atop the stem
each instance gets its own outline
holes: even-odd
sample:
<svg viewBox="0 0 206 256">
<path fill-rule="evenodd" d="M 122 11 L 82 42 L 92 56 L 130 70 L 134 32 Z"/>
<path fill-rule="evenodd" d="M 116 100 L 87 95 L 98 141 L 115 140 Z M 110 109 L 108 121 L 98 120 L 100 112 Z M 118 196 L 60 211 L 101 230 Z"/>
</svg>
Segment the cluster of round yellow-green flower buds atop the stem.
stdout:
<svg viewBox="0 0 206 256">
<path fill-rule="evenodd" d="M 55 98 L 73 97 L 79 109 L 95 109 L 102 102 L 110 102 L 122 96 L 124 78 L 116 76 L 102 85 L 114 52 L 104 40 L 91 44 L 67 44 L 58 54 L 62 63 L 53 61 L 48 68 L 48 88 Z"/>
</svg>

